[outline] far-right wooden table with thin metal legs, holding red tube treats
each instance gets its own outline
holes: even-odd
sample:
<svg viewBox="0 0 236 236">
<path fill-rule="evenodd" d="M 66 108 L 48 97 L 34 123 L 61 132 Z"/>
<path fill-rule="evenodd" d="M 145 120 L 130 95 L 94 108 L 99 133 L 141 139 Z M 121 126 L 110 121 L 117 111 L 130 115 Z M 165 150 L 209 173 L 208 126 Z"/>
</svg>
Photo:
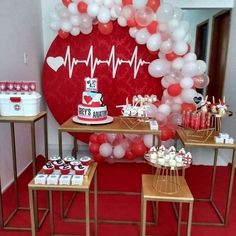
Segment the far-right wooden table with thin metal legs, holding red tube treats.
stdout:
<svg viewBox="0 0 236 236">
<path fill-rule="evenodd" d="M 230 204 L 231 204 L 231 197 L 232 197 L 232 189 L 233 189 L 233 182 L 234 182 L 234 174 L 235 174 L 235 164 L 236 164 L 236 144 L 220 144 L 215 143 L 214 136 L 210 136 L 205 142 L 192 142 L 188 141 L 184 134 L 184 130 L 182 128 L 177 129 L 177 135 L 182 142 L 183 146 L 185 148 L 213 148 L 214 149 L 214 162 L 213 162 L 213 170 L 212 170 L 212 177 L 211 177 L 211 186 L 210 186 L 210 196 L 206 199 L 196 199 L 195 201 L 208 201 L 213 209 L 215 210 L 220 223 L 217 222 L 192 222 L 192 224 L 197 225 L 215 225 L 215 226 L 224 226 L 228 223 L 229 218 L 229 211 L 230 211 Z M 228 193 L 227 193 L 227 199 L 226 199 L 226 206 L 224 209 L 224 216 L 222 216 L 222 213 L 217 208 L 215 202 L 214 202 L 214 189 L 215 189 L 215 181 L 216 181 L 216 169 L 217 169 L 217 159 L 218 159 L 218 150 L 219 149 L 231 149 L 232 150 L 232 168 L 231 173 L 229 177 L 228 182 Z"/>
</svg>

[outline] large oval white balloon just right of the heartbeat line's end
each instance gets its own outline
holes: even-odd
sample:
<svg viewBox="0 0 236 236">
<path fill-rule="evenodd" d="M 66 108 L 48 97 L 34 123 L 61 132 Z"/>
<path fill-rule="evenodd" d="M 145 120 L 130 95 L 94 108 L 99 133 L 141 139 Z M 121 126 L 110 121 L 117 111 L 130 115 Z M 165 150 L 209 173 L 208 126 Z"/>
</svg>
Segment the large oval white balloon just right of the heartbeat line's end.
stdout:
<svg viewBox="0 0 236 236">
<path fill-rule="evenodd" d="M 148 72 L 155 78 L 160 78 L 167 75 L 170 71 L 170 63 L 164 59 L 156 59 L 148 66 Z"/>
</svg>

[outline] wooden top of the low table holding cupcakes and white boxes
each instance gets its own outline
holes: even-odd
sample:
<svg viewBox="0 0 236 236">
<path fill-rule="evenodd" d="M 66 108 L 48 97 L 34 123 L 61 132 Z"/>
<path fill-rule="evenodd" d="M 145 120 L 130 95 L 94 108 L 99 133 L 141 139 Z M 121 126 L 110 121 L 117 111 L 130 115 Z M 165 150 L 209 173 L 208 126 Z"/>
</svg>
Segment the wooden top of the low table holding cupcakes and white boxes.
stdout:
<svg viewBox="0 0 236 236">
<path fill-rule="evenodd" d="M 84 191 L 89 189 L 94 173 L 97 168 L 97 163 L 92 162 L 89 166 L 87 178 L 84 178 L 82 185 L 59 185 L 59 184 L 35 184 L 34 179 L 30 181 L 28 187 L 34 190 L 53 190 L 53 191 Z"/>
</svg>

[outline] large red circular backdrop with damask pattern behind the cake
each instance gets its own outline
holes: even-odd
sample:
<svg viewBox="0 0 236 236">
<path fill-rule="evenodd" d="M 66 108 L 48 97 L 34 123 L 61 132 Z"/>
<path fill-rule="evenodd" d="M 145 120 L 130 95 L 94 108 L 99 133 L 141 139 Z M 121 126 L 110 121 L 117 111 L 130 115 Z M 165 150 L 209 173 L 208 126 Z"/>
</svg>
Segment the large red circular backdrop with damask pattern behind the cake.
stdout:
<svg viewBox="0 0 236 236">
<path fill-rule="evenodd" d="M 91 65 L 93 77 L 98 79 L 99 91 L 103 93 L 104 103 L 111 116 L 120 115 L 120 109 L 116 105 L 125 104 L 126 97 L 130 101 L 138 94 L 156 94 L 161 98 L 160 80 L 149 75 L 148 64 L 140 65 L 134 78 L 134 67 L 137 68 L 138 62 L 151 62 L 156 57 L 157 55 L 149 53 L 145 45 L 136 44 L 129 36 L 127 27 L 122 28 L 117 23 L 114 23 L 113 33 L 110 35 L 102 35 L 94 27 L 89 35 L 70 35 L 66 39 L 57 36 L 48 50 L 43 66 L 43 93 L 47 105 L 59 124 L 77 115 L 77 106 L 81 103 L 85 89 L 84 78 L 91 77 Z M 77 63 L 73 63 L 73 59 L 78 60 Z M 107 60 L 110 65 L 96 65 L 96 59 Z M 121 63 L 115 68 L 112 62 L 116 63 L 118 59 L 130 61 L 131 66 Z M 88 141 L 88 134 L 76 134 L 76 137 L 81 141 Z"/>
</svg>

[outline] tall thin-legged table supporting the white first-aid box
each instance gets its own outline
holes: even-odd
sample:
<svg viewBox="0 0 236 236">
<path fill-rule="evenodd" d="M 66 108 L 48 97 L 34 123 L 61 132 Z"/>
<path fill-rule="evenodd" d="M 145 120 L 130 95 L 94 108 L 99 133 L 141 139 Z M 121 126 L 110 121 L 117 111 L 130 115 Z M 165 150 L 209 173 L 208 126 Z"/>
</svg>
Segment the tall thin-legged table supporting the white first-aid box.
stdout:
<svg viewBox="0 0 236 236">
<path fill-rule="evenodd" d="M 45 158 L 48 159 L 48 133 L 47 133 L 47 113 L 45 111 L 40 112 L 36 116 L 0 116 L 0 123 L 9 123 L 11 129 L 11 145 L 12 145 L 12 163 L 13 163 L 13 175 L 14 175 L 14 199 L 15 209 L 4 221 L 3 217 L 3 203 L 0 191 L 0 228 L 5 230 L 31 230 L 30 228 L 8 226 L 8 223 L 18 210 L 28 210 L 29 208 L 19 206 L 18 197 L 18 183 L 17 183 L 17 161 L 16 161 L 16 140 L 15 140 L 15 123 L 29 123 L 31 126 L 31 147 L 32 147 L 32 165 L 33 176 L 36 175 L 36 142 L 35 142 L 35 123 L 44 119 L 44 148 Z M 1 185 L 0 185 L 1 187 Z M 1 189 L 0 189 L 1 190 Z"/>
</svg>

